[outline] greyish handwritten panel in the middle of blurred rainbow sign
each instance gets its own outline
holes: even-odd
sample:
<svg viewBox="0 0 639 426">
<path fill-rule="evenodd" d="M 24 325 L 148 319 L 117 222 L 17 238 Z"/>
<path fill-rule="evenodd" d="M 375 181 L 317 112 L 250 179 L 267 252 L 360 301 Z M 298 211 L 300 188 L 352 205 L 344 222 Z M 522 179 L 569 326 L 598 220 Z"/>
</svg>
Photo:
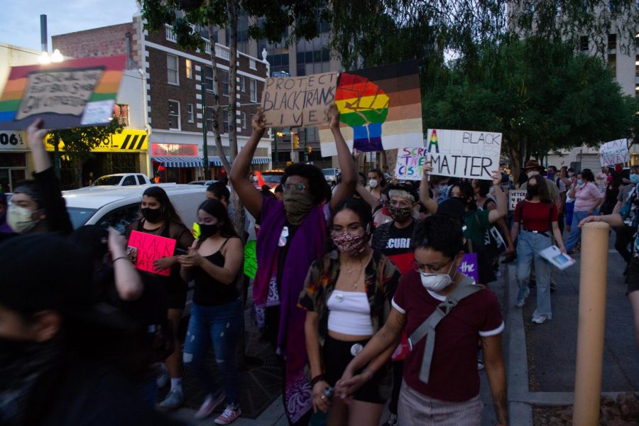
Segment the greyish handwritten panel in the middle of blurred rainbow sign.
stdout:
<svg viewBox="0 0 639 426">
<path fill-rule="evenodd" d="M 99 67 L 32 72 L 16 119 L 44 113 L 81 116 L 102 73 Z"/>
</svg>

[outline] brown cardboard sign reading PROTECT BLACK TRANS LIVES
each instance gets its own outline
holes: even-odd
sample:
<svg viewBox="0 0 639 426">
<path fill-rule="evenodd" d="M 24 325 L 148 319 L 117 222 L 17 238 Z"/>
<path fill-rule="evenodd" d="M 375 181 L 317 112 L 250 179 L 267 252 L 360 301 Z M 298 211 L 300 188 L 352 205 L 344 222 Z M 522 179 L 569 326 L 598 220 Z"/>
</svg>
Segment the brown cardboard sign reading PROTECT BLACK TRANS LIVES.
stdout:
<svg viewBox="0 0 639 426">
<path fill-rule="evenodd" d="M 338 75 L 337 72 L 324 72 L 304 77 L 267 78 L 261 102 L 266 126 L 328 124 L 324 113 L 335 101 Z"/>
</svg>

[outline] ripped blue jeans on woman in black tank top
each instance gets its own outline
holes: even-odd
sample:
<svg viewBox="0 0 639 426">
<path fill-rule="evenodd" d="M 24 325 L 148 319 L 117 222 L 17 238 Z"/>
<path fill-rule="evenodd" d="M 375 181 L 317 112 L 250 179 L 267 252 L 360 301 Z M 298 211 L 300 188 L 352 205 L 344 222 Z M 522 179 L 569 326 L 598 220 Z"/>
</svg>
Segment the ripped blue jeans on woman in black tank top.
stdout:
<svg viewBox="0 0 639 426">
<path fill-rule="evenodd" d="M 239 373 L 236 350 L 242 320 L 241 300 L 221 306 L 193 304 L 184 343 L 184 365 L 204 385 L 209 394 L 219 390 L 205 364 L 209 344 L 224 379 L 226 405 L 239 403 Z"/>
</svg>

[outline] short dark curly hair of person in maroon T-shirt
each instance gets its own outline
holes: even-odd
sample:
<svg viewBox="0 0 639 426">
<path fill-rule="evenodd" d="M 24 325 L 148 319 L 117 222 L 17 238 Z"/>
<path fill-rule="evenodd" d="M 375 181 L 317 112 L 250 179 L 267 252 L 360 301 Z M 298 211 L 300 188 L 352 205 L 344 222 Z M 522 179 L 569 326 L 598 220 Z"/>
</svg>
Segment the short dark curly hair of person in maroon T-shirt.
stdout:
<svg viewBox="0 0 639 426">
<path fill-rule="evenodd" d="M 415 226 L 411 241 L 413 250 L 432 249 L 451 258 L 464 250 L 464 234 L 459 221 L 437 214 Z"/>
</svg>

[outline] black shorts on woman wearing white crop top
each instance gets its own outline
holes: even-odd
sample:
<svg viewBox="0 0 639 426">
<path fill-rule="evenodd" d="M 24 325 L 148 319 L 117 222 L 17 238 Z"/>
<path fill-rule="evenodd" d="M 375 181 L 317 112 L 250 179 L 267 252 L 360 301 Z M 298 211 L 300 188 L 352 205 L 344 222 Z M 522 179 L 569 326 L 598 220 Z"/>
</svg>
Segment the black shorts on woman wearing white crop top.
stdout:
<svg viewBox="0 0 639 426">
<path fill-rule="evenodd" d="M 342 342 L 341 340 L 327 336 L 324 341 L 324 368 L 326 368 L 324 376 L 330 386 L 335 387 L 335 383 L 342 378 L 346 366 L 354 359 L 354 356 L 351 354 L 351 347 L 354 344 L 361 344 L 361 346 L 364 347 L 368 343 L 368 340 L 370 339 L 359 342 Z M 364 403 L 385 404 L 386 395 L 383 395 L 383 384 L 387 377 L 387 369 L 380 368 L 368 383 L 356 391 L 355 395 L 353 395 L 353 399 Z"/>
</svg>

